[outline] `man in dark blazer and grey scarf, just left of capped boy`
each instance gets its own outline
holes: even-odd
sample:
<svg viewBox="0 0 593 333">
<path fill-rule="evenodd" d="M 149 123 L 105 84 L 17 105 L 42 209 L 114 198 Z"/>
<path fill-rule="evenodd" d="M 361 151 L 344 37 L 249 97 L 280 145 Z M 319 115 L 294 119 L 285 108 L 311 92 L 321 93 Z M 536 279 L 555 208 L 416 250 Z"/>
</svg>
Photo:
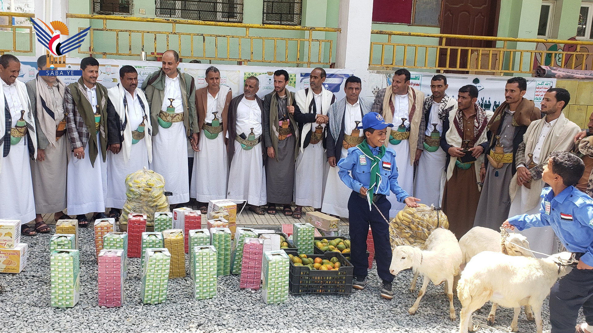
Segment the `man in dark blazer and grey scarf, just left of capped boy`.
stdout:
<svg viewBox="0 0 593 333">
<path fill-rule="evenodd" d="M 372 101 L 361 98 L 361 79 L 350 76 L 344 84 L 346 97 L 331 104 L 329 111 L 329 133 L 327 133 L 327 162 L 330 165 L 327 174 L 326 189 L 323 194 L 321 210 L 326 214 L 348 217 L 350 190 L 338 174 L 336 167 L 340 159 L 348 155 L 348 149 L 359 145 L 364 140 L 364 133 L 359 129 L 362 117 L 371 112 Z"/>
</svg>

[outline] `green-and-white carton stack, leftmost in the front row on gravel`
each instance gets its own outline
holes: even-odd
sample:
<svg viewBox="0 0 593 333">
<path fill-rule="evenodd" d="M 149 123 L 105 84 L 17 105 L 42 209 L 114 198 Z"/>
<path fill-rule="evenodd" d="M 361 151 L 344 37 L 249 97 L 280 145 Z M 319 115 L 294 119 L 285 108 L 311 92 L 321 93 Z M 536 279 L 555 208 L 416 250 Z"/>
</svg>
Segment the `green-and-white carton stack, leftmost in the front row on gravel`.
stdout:
<svg viewBox="0 0 593 333">
<path fill-rule="evenodd" d="M 80 257 L 77 249 L 59 249 L 50 254 L 51 305 L 72 308 L 80 291 Z"/>
</svg>

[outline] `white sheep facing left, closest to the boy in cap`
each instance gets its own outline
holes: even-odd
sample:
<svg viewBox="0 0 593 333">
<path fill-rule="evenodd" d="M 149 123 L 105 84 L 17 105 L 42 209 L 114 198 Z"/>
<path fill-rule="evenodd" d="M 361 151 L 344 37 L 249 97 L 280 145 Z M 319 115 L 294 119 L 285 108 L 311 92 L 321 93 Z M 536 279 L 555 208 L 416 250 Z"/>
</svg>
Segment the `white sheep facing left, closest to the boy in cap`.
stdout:
<svg viewBox="0 0 593 333">
<path fill-rule="evenodd" d="M 461 249 L 457 238 L 451 231 L 443 228 L 437 228 L 431 233 L 426 239 L 424 250 L 409 245 L 397 246 L 393 250 L 389 267 L 391 274 L 396 275 L 402 270 L 412 268 L 423 277 L 422 289 L 418 293 L 418 298 L 412 308 L 408 310 L 410 315 L 416 313 L 429 281 L 435 285 L 444 281 L 445 292 L 449 297 L 449 318 L 452 321 L 455 320 L 453 277 L 459 274 L 460 264 Z"/>
</svg>

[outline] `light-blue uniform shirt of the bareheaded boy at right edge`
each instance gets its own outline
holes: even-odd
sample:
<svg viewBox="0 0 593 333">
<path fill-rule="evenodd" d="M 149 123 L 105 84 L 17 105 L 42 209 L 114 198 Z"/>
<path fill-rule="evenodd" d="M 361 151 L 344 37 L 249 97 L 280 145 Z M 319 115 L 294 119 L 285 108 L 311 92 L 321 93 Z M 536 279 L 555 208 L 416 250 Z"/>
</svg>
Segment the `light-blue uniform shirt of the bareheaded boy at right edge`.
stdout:
<svg viewBox="0 0 593 333">
<path fill-rule="evenodd" d="M 551 187 L 541 191 L 540 213 L 517 215 L 509 223 L 519 230 L 551 226 L 570 252 L 584 252 L 581 260 L 593 266 L 593 199 L 570 186 L 556 197 Z M 537 241 L 533 240 L 532 241 Z"/>
</svg>

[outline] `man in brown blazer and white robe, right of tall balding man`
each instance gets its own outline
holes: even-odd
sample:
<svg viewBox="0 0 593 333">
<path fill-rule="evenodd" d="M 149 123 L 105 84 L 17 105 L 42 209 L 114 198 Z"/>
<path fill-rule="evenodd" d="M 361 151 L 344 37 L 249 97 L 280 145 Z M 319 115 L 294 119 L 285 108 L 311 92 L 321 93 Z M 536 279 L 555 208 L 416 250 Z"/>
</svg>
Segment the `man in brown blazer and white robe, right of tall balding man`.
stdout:
<svg viewBox="0 0 593 333">
<path fill-rule="evenodd" d="M 228 158 L 227 114 L 231 88 L 220 85 L 218 68 L 206 69 L 208 86 L 196 90 L 197 122 L 200 127 L 198 151 L 194 153 L 190 197 L 196 198 L 202 214 L 208 201 L 227 197 Z M 232 142 L 232 140 L 231 140 Z"/>
</svg>

